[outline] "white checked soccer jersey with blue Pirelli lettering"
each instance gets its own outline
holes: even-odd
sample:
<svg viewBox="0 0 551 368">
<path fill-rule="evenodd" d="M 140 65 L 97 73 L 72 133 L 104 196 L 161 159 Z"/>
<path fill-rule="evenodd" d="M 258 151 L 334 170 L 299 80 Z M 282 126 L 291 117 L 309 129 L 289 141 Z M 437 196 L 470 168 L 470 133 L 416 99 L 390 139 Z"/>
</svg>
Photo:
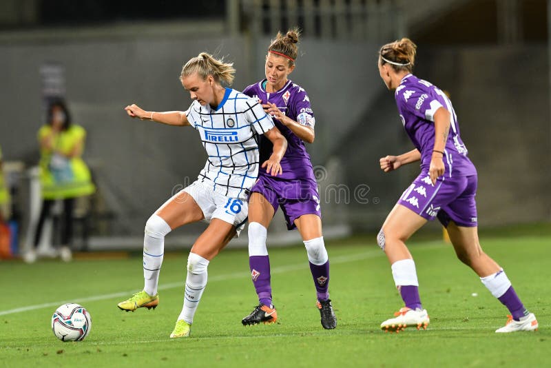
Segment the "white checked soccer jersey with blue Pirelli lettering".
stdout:
<svg viewBox="0 0 551 368">
<path fill-rule="evenodd" d="M 224 196 L 246 199 L 258 176 L 256 134 L 274 127 L 271 117 L 255 99 L 231 88 L 218 108 L 194 101 L 185 114 L 208 155 L 198 181 Z"/>
</svg>

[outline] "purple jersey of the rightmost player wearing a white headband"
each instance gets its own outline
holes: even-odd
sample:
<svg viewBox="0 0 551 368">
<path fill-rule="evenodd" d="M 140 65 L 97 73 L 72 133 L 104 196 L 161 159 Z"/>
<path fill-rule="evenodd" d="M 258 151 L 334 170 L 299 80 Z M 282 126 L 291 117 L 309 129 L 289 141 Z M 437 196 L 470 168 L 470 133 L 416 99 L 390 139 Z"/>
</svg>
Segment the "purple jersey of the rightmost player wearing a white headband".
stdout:
<svg viewBox="0 0 551 368">
<path fill-rule="evenodd" d="M 444 177 L 476 175 L 459 136 L 457 115 L 448 96 L 435 85 L 408 74 L 396 88 L 396 104 L 406 133 L 421 152 L 421 169 L 428 170 L 435 144 L 434 114 L 439 108 L 450 112 L 450 133 L 444 148 Z"/>
</svg>

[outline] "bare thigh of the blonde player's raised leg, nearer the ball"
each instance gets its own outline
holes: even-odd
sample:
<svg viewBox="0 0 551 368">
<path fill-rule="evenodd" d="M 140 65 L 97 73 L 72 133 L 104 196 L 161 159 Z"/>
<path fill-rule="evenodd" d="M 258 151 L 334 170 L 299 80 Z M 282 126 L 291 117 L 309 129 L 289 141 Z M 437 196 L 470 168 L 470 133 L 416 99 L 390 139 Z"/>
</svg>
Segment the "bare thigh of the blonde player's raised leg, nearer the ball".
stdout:
<svg viewBox="0 0 551 368">
<path fill-rule="evenodd" d="M 174 194 L 155 214 L 163 218 L 173 230 L 204 218 L 202 210 L 194 198 L 183 191 Z"/>
</svg>

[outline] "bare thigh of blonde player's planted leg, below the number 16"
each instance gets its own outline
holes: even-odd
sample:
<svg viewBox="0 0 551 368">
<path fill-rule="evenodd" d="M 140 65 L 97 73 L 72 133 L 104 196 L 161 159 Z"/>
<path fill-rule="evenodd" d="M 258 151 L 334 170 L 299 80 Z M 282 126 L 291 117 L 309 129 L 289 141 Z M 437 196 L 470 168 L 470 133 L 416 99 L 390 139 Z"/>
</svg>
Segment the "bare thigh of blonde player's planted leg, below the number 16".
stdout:
<svg viewBox="0 0 551 368">
<path fill-rule="evenodd" d="M 204 232 L 197 238 L 191 252 L 211 260 L 236 235 L 236 227 L 231 223 L 213 218 Z"/>
</svg>

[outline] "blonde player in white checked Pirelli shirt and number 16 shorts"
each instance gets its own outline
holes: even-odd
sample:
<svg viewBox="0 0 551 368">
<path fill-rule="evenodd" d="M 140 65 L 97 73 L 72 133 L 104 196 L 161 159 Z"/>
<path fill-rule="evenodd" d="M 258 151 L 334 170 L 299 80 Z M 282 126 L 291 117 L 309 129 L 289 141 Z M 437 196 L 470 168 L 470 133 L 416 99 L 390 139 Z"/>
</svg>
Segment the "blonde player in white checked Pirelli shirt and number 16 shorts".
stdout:
<svg viewBox="0 0 551 368">
<path fill-rule="evenodd" d="M 209 261 L 239 234 L 247 221 L 247 195 L 258 172 L 266 171 L 273 176 L 282 173 L 280 161 L 287 141 L 258 102 L 222 87 L 221 83 L 231 85 L 234 73 L 231 63 L 223 63 L 202 52 L 184 65 L 180 75 L 183 87 L 194 100 L 187 111 L 150 112 L 136 105 L 125 108 L 132 117 L 167 125 L 191 125 L 199 131 L 208 154 L 197 180 L 147 220 L 143 242 L 144 289 L 118 303 L 125 311 L 155 308 L 165 236 L 187 223 L 209 222 L 187 258 L 184 304 L 171 338 L 189 336 L 207 285 Z M 263 134 L 273 144 L 273 153 L 262 163 L 263 170 L 259 170 L 256 134 Z"/>
</svg>

